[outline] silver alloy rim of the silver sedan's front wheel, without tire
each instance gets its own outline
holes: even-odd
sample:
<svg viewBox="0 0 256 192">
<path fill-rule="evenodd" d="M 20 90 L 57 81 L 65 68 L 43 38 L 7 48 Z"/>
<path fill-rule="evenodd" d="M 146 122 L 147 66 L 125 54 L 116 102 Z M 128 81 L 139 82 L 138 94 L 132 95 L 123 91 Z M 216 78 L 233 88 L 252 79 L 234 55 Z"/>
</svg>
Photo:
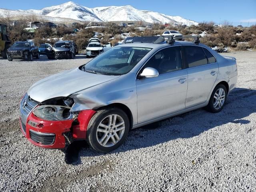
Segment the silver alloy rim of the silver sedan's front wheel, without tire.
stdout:
<svg viewBox="0 0 256 192">
<path fill-rule="evenodd" d="M 111 114 L 106 116 L 98 125 L 96 138 L 104 147 L 114 146 L 124 135 L 125 124 L 121 116 Z"/>
</svg>

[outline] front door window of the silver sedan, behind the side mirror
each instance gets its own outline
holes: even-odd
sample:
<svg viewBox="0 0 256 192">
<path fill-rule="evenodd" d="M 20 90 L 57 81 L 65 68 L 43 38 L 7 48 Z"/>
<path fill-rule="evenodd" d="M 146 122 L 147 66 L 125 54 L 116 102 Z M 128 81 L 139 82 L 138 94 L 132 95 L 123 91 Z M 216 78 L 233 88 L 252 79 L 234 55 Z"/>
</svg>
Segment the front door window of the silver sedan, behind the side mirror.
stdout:
<svg viewBox="0 0 256 192">
<path fill-rule="evenodd" d="M 148 60 L 143 69 L 147 67 L 155 68 L 159 74 L 181 70 L 182 58 L 180 46 L 169 47 L 158 51 Z"/>
</svg>

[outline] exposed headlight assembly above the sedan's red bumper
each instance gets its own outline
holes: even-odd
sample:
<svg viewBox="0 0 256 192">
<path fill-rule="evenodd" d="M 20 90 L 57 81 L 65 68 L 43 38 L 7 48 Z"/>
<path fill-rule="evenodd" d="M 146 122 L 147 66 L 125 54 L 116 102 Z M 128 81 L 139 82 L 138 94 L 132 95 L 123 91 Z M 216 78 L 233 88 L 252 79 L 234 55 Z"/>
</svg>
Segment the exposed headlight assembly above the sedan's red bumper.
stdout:
<svg viewBox="0 0 256 192">
<path fill-rule="evenodd" d="M 42 105 L 33 110 L 33 114 L 41 119 L 49 121 L 71 120 L 73 113 L 70 107 L 59 105 Z"/>
</svg>

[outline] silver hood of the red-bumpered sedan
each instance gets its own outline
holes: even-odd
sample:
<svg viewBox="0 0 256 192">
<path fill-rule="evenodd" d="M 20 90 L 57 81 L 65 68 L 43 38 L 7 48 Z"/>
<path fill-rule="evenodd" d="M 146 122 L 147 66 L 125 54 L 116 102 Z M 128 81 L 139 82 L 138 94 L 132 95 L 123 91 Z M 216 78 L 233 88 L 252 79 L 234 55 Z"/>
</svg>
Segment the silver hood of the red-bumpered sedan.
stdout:
<svg viewBox="0 0 256 192">
<path fill-rule="evenodd" d="M 80 90 L 102 84 L 118 77 L 88 73 L 75 68 L 36 82 L 28 90 L 28 96 L 38 102 L 43 102 L 50 98 L 66 97 Z"/>
</svg>

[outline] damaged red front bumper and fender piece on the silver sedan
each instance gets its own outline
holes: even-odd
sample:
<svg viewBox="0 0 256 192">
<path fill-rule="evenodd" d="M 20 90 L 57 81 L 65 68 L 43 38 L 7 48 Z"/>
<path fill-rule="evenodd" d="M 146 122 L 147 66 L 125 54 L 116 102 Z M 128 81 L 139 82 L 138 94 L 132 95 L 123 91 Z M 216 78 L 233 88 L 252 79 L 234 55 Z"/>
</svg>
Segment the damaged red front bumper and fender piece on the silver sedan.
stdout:
<svg viewBox="0 0 256 192">
<path fill-rule="evenodd" d="M 65 148 L 64 134 L 70 132 L 72 139 L 85 139 L 87 126 L 90 119 L 96 113 L 94 110 L 84 110 L 78 114 L 78 122 L 72 126 L 74 120 L 48 121 L 36 117 L 30 113 L 26 120 L 25 128 L 20 127 L 24 136 L 34 145 L 43 148 Z M 36 123 L 36 127 L 30 126 L 28 121 Z M 26 133 L 24 130 L 26 130 Z"/>
</svg>

